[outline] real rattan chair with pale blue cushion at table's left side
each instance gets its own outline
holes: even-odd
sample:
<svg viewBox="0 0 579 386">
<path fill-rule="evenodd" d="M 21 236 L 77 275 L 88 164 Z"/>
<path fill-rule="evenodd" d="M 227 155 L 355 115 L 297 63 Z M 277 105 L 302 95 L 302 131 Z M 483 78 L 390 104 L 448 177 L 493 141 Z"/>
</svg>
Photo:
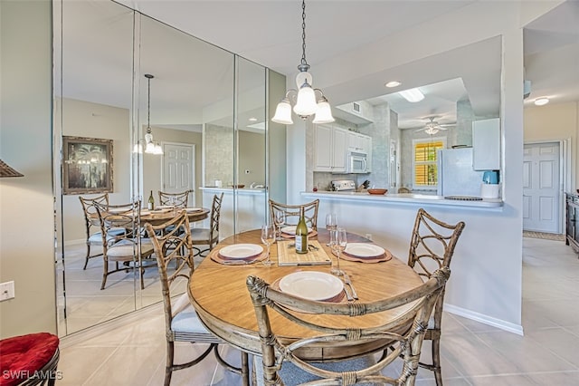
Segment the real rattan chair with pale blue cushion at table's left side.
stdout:
<svg viewBox="0 0 579 386">
<path fill-rule="evenodd" d="M 171 375 L 174 371 L 194 366 L 203 361 L 212 351 L 217 362 L 223 367 L 249 378 L 247 353 L 242 352 L 241 368 L 233 367 L 225 362 L 218 350 L 218 344 L 223 343 L 223 341 L 205 329 L 204 324 L 199 321 L 193 305 L 189 302 L 187 294 L 173 296 L 177 290 L 183 292 L 186 289 L 187 282 L 195 270 L 193 244 L 185 210 L 164 224 L 152 226 L 147 223 L 145 227 L 157 258 L 163 293 L 166 337 L 165 385 L 171 383 Z M 180 229 L 184 229 L 184 231 Z M 169 272 L 168 266 L 171 262 L 175 262 L 176 268 Z M 196 355 L 193 360 L 186 363 L 175 363 L 176 342 L 207 343 L 209 346 Z"/>
</svg>

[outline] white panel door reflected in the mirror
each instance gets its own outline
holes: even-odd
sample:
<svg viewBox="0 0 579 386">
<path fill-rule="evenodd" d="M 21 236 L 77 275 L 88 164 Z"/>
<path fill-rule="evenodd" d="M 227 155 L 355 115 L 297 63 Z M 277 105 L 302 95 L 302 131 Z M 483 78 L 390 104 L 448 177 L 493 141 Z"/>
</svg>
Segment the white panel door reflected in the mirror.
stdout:
<svg viewBox="0 0 579 386">
<path fill-rule="evenodd" d="M 195 145 L 163 145 L 163 191 L 179 193 L 193 190 L 188 206 L 195 206 Z"/>
</svg>

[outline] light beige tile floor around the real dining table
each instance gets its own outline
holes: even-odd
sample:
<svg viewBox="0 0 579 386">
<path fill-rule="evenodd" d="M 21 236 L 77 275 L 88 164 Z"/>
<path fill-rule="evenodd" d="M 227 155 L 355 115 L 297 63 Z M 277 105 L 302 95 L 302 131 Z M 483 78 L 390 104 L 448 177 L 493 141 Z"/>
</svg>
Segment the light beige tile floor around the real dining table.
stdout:
<svg viewBox="0 0 579 386">
<path fill-rule="evenodd" d="M 444 314 L 442 374 L 453 385 L 579 385 L 579 259 L 560 241 L 524 238 L 523 327 L 507 333 Z M 176 357 L 192 347 L 178 344 Z M 238 352 L 223 347 L 233 360 Z M 165 366 L 160 305 L 62 339 L 59 385 L 159 385 Z M 212 357 L 174 372 L 172 385 L 239 385 Z M 430 372 L 416 384 L 433 385 Z"/>
</svg>

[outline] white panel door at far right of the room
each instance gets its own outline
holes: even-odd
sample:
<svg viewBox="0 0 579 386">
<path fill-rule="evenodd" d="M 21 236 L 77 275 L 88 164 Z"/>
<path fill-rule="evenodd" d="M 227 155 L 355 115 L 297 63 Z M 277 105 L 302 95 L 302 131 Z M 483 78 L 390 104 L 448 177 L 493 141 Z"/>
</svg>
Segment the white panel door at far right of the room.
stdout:
<svg viewBox="0 0 579 386">
<path fill-rule="evenodd" d="M 525 145 L 523 229 L 561 233 L 560 150 L 558 143 Z"/>
</svg>

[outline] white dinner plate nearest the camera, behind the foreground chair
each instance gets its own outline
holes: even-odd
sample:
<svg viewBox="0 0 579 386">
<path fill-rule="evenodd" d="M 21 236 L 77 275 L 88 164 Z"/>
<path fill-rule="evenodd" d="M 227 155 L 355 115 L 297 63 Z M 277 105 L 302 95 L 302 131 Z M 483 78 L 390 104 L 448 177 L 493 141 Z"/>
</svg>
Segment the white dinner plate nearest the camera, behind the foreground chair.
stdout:
<svg viewBox="0 0 579 386">
<path fill-rule="evenodd" d="M 337 276 L 318 271 L 299 271 L 280 280 L 280 290 L 309 300 L 327 300 L 339 294 L 344 284 Z"/>
</svg>

